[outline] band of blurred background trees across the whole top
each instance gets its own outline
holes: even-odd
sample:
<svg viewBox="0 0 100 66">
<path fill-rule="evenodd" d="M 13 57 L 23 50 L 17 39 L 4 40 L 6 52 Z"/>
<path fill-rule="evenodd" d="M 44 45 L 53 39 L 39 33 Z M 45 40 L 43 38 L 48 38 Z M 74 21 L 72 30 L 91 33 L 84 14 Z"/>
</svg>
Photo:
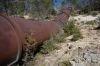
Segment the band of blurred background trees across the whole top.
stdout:
<svg viewBox="0 0 100 66">
<path fill-rule="evenodd" d="M 62 0 L 62 7 L 66 4 L 68 0 Z M 89 4 L 83 5 L 81 8 L 77 0 L 72 0 L 73 9 L 81 9 L 84 13 L 89 13 L 90 11 L 99 10 L 100 11 L 100 1 L 90 0 Z M 7 15 L 24 15 L 32 14 L 35 17 L 49 16 L 55 14 L 54 1 L 53 0 L 1 0 L 0 1 L 0 12 Z"/>
</svg>

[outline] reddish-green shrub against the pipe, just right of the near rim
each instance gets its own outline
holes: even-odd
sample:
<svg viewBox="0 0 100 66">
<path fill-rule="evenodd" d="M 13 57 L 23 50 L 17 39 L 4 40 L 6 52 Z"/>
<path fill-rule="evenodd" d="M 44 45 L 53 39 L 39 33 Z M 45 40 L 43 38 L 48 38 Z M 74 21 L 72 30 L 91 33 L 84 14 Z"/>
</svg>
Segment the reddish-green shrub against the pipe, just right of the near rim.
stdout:
<svg viewBox="0 0 100 66">
<path fill-rule="evenodd" d="M 23 65 L 28 63 L 34 57 L 34 45 L 35 40 L 33 40 L 33 34 L 26 35 L 25 43 L 24 43 L 24 54 L 23 54 Z"/>
</svg>

